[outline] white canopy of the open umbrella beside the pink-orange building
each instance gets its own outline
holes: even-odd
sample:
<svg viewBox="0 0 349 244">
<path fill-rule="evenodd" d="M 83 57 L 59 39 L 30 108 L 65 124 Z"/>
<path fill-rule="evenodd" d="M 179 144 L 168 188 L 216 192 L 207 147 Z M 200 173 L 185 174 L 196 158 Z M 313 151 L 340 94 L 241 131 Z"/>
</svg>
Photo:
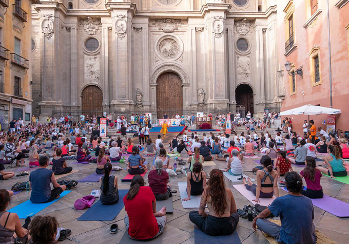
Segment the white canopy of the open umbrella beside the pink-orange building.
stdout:
<svg viewBox="0 0 349 244">
<path fill-rule="evenodd" d="M 280 115 L 338 115 L 340 114 L 340 109 L 328 108 L 328 107 L 320 107 L 315 105 L 304 105 L 301 107 L 289 109 L 283 112 L 280 112 Z"/>
</svg>

